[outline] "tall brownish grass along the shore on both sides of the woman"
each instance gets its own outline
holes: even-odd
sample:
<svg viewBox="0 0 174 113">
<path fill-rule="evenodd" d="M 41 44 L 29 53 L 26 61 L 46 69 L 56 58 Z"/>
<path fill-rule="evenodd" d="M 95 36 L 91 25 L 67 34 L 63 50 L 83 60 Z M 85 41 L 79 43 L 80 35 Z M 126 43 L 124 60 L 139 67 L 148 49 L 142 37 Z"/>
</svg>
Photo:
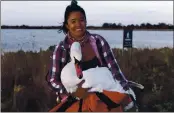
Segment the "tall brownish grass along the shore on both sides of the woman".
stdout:
<svg viewBox="0 0 174 113">
<path fill-rule="evenodd" d="M 125 76 L 145 86 L 135 89 L 140 111 L 174 111 L 174 51 L 113 49 Z M 7 52 L 1 55 L 1 111 L 48 111 L 56 95 L 45 75 L 52 51 Z M 122 56 L 123 55 L 123 56 Z"/>
</svg>

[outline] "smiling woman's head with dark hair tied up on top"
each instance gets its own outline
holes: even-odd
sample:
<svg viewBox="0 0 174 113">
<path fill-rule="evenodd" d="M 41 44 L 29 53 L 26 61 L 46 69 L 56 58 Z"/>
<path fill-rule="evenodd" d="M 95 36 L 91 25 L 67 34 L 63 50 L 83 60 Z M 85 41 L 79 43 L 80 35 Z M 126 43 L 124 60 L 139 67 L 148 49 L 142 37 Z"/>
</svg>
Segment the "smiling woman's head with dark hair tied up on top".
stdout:
<svg viewBox="0 0 174 113">
<path fill-rule="evenodd" d="M 73 40 L 83 39 L 86 31 L 86 14 L 81 7 L 77 7 L 72 2 L 70 6 L 66 8 L 64 15 L 64 22 L 62 29 L 64 34 L 71 36 Z"/>
</svg>

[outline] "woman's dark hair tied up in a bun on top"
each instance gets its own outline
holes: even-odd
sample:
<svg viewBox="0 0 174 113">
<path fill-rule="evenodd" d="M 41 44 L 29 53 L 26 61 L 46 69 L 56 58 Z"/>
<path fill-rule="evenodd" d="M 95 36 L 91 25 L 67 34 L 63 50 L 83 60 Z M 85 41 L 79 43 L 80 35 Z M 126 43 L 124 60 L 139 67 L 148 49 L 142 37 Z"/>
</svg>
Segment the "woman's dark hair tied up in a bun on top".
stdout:
<svg viewBox="0 0 174 113">
<path fill-rule="evenodd" d="M 82 7 L 80 7 L 79 5 L 77 5 L 76 0 L 72 0 L 71 5 L 68 5 L 66 7 L 65 14 L 64 14 L 64 22 L 63 22 L 63 25 L 61 26 L 61 28 L 59 29 L 59 33 L 63 31 L 64 34 L 67 34 L 68 29 L 66 28 L 65 25 L 67 24 L 67 20 L 68 20 L 70 13 L 74 12 L 74 11 L 80 11 L 84 15 L 85 20 L 86 20 L 86 13 L 85 13 L 84 9 Z"/>
</svg>

